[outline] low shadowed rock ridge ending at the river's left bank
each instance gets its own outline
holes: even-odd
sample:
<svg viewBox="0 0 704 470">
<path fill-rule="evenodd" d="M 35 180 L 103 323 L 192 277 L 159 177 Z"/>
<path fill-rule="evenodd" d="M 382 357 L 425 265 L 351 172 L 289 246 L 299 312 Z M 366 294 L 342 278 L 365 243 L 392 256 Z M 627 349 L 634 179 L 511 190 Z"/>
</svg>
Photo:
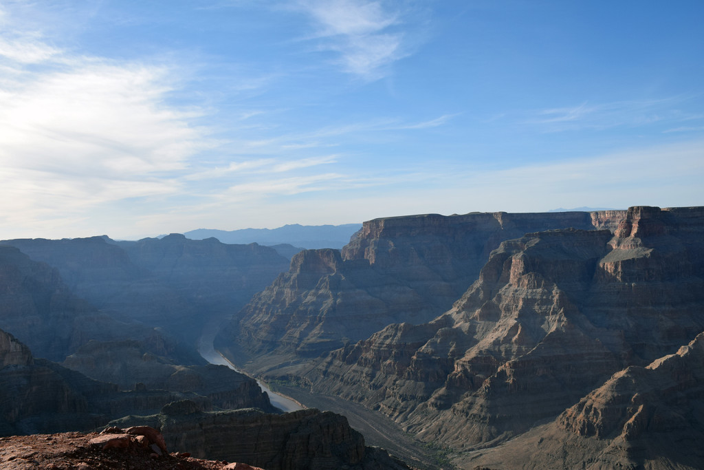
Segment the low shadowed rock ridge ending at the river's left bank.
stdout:
<svg viewBox="0 0 704 470">
<path fill-rule="evenodd" d="M 144 341 L 88 342 L 63 361 L 63 366 L 97 381 L 136 387 L 194 392 L 220 409 L 260 408 L 275 412 L 268 395 L 253 378 L 214 364 L 184 366 L 154 353 Z"/>
</svg>

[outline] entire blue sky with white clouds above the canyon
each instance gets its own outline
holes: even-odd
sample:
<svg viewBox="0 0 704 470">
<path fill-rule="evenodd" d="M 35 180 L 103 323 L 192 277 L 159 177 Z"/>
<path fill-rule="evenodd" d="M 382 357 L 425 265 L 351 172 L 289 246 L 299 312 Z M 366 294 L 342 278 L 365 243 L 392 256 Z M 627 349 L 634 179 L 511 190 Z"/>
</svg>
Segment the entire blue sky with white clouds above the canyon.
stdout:
<svg viewBox="0 0 704 470">
<path fill-rule="evenodd" d="M 0 3 L 0 239 L 704 205 L 704 1 Z"/>
</svg>

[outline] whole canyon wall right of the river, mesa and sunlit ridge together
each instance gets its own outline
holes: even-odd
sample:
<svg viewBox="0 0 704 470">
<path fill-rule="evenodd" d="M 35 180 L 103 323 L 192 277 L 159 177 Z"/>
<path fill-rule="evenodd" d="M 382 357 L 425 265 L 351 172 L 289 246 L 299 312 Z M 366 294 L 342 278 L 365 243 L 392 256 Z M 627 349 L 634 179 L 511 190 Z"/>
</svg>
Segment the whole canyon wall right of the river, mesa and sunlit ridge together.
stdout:
<svg viewBox="0 0 704 470">
<path fill-rule="evenodd" d="M 703 209 L 560 215 L 561 228 L 524 224 L 513 240 L 504 232 L 518 225 L 511 214 L 370 221 L 341 254 L 294 256 L 218 347 L 291 389 L 387 416 L 451 449 L 464 468 L 467 456 L 513 442 L 613 374 L 673 354 L 704 331 Z M 458 228 L 468 219 L 490 229 L 472 230 L 476 238 L 455 248 L 453 230 L 469 233 Z M 434 246 L 428 225 L 452 241 Z M 382 290 L 400 302 L 384 302 Z M 687 462 L 691 450 L 677 449 L 667 458 Z M 637 466 L 629 459 L 620 462 Z"/>
</svg>

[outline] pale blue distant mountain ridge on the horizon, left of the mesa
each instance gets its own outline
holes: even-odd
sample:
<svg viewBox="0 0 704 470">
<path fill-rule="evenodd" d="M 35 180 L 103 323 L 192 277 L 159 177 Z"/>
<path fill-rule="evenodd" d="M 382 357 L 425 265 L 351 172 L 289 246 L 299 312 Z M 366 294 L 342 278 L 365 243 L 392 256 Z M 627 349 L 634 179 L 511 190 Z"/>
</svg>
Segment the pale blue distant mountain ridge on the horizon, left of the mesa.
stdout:
<svg viewBox="0 0 704 470">
<path fill-rule="evenodd" d="M 241 230 L 215 230 L 199 228 L 184 233 L 191 240 L 205 240 L 214 237 L 222 243 L 234 245 L 282 245 L 306 249 L 334 248 L 341 249 L 347 245 L 350 238 L 362 228 L 361 223 L 346 223 L 343 225 L 300 225 L 298 223 L 284 225 L 279 228 L 243 228 Z M 162 238 L 165 235 L 159 235 Z"/>
</svg>

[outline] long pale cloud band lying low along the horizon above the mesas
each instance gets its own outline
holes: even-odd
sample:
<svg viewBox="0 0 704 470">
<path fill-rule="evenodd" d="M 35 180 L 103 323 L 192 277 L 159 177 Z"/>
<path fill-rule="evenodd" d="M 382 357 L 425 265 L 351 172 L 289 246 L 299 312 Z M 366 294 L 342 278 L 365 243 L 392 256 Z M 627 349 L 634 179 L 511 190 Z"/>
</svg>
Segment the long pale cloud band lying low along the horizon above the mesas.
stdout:
<svg viewBox="0 0 704 470">
<path fill-rule="evenodd" d="M 184 230 L 214 227 L 208 214 L 237 213 L 239 226 L 348 223 L 403 214 L 534 212 L 558 206 L 700 205 L 704 142 L 635 148 L 500 170 L 434 166 L 407 171 L 325 173 L 232 185 L 210 205 L 179 207 Z M 363 191 L 359 189 L 363 188 Z M 353 190 L 353 191 L 347 191 Z M 315 211 L 301 211 L 315 194 Z M 325 197 L 319 197 L 323 194 Z M 517 197 L 520 194 L 520 197 Z M 272 202 L 275 202 L 272 204 Z M 144 227 L 160 214 L 143 218 Z M 162 224 L 172 220 L 164 217 Z M 222 226 L 222 225 L 220 225 Z M 149 232 L 149 230 L 146 230 Z M 151 229 L 153 232 L 154 230 Z"/>
</svg>

